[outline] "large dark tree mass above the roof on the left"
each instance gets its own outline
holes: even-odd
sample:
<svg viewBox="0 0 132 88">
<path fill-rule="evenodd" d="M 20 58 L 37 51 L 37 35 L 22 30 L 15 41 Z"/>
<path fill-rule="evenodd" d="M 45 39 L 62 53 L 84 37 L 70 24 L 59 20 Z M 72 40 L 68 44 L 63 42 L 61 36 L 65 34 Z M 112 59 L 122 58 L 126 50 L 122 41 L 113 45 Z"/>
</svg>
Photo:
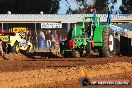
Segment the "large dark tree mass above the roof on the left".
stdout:
<svg viewBox="0 0 132 88">
<path fill-rule="evenodd" d="M 1 0 L 0 13 L 11 11 L 13 14 L 57 13 L 59 0 Z"/>
</svg>

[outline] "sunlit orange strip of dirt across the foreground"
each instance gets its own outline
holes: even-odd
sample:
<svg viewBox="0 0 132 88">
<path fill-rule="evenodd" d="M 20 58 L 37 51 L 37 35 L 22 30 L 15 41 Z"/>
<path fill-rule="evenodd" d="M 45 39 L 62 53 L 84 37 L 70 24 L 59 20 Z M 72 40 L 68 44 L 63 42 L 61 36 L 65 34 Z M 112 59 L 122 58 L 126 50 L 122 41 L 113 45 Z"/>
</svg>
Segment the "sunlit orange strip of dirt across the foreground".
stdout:
<svg viewBox="0 0 132 88">
<path fill-rule="evenodd" d="M 128 62 L 108 63 L 104 65 L 45 68 L 21 72 L 1 72 L 1 88 L 49 88 L 72 87 L 80 88 L 80 68 L 85 70 L 90 78 L 132 78 L 132 64 Z M 122 69 L 123 68 L 123 69 Z M 110 87 L 108 87 L 110 88 Z"/>
</svg>

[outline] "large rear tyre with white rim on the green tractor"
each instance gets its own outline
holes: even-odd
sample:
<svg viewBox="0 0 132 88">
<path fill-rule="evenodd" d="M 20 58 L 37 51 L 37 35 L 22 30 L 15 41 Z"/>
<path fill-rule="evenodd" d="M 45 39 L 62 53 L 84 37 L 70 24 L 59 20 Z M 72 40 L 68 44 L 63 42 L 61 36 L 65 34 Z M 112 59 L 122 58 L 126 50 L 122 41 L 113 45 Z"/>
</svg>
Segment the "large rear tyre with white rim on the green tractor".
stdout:
<svg viewBox="0 0 132 88">
<path fill-rule="evenodd" d="M 99 56 L 111 57 L 114 55 L 114 33 L 112 29 L 106 27 L 102 33 L 103 47 L 99 49 Z"/>
</svg>

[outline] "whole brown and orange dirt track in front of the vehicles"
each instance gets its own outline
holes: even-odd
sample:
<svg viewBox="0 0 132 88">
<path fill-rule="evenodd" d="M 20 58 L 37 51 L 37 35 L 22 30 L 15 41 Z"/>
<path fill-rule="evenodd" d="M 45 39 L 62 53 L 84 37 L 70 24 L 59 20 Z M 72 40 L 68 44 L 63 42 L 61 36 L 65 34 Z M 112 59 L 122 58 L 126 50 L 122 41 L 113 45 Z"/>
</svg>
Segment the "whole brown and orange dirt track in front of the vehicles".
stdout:
<svg viewBox="0 0 132 88">
<path fill-rule="evenodd" d="M 132 57 L 28 59 L 9 55 L 0 61 L 0 88 L 83 88 L 79 79 L 83 69 L 90 79 L 128 79 L 132 81 Z M 8 58 L 9 59 L 9 58 Z M 88 88 L 131 88 L 89 86 Z"/>
</svg>

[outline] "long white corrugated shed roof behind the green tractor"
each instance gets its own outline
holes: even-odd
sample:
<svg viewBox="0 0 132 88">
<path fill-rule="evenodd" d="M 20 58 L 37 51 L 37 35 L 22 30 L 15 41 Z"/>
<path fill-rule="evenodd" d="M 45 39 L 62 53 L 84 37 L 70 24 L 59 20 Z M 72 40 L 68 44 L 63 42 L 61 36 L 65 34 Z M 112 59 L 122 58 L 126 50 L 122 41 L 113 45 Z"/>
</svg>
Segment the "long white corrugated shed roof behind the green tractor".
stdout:
<svg viewBox="0 0 132 88">
<path fill-rule="evenodd" d="M 62 23 L 67 22 L 82 22 L 83 17 L 92 17 L 92 14 L 0 14 L 0 22 L 6 21 L 20 21 L 20 22 L 46 22 L 46 21 L 60 21 Z M 101 21 L 107 20 L 107 14 L 97 14 Z M 132 14 L 114 14 L 112 15 L 112 20 L 120 21 L 131 21 Z"/>
</svg>

